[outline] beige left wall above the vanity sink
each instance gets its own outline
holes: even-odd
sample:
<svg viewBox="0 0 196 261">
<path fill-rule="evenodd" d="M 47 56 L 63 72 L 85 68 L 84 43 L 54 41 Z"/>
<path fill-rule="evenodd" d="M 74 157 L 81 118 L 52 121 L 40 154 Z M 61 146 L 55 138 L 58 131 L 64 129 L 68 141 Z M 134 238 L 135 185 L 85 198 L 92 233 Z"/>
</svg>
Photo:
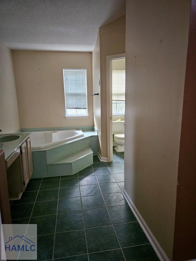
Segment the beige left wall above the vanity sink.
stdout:
<svg viewBox="0 0 196 261">
<path fill-rule="evenodd" d="M 16 132 L 20 129 L 20 122 L 12 54 L 2 42 L 0 57 L 0 133 Z"/>
</svg>

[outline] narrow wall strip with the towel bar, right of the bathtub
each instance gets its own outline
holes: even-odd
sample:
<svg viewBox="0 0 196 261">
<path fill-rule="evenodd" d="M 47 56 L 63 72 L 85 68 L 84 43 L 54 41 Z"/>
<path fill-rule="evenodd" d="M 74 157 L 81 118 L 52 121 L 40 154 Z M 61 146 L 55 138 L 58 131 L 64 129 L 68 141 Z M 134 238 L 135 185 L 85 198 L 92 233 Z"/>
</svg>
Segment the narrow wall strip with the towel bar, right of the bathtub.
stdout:
<svg viewBox="0 0 196 261">
<path fill-rule="evenodd" d="M 100 41 L 99 33 L 97 35 L 96 45 L 92 51 L 92 85 L 93 93 L 99 95 L 93 96 L 93 112 L 94 112 L 94 126 L 98 130 L 99 148 L 101 153 L 101 95 L 100 95 Z"/>
</svg>

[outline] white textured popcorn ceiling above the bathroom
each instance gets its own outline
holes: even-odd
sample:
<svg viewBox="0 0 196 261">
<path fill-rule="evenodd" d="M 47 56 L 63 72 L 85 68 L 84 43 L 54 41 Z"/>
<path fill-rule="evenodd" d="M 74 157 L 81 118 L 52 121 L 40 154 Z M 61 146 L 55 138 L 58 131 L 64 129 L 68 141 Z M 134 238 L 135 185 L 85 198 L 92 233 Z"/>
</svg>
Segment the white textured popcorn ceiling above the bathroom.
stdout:
<svg viewBox="0 0 196 261">
<path fill-rule="evenodd" d="M 11 49 L 92 51 L 126 0 L 0 0 L 0 39 Z"/>
</svg>

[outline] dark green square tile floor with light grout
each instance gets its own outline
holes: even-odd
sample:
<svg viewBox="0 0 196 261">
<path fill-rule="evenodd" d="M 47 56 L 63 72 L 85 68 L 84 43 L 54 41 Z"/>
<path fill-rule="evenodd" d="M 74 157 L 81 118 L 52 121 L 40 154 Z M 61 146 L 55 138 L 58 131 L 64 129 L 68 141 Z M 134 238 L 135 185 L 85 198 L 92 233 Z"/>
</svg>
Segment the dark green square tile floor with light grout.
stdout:
<svg viewBox="0 0 196 261">
<path fill-rule="evenodd" d="M 124 153 L 73 176 L 32 179 L 11 203 L 15 224 L 37 224 L 38 260 L 159 260 L 122 195 Z"/>
</svg>

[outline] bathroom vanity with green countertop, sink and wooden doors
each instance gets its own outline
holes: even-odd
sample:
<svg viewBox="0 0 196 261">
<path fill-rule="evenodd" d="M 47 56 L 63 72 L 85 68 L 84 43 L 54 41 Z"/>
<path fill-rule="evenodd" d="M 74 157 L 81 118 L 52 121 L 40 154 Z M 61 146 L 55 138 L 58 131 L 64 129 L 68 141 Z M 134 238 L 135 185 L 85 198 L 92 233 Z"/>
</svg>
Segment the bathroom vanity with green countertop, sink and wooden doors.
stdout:
<svg viewBox="0 0 196 261">
<path fill-rule="evenodd" d="M 30 133 L 0 135 L 0 149 L 5 152 L 9 200 L 21 198 L 33 172 L 29 135 Z"/>
</svg>

